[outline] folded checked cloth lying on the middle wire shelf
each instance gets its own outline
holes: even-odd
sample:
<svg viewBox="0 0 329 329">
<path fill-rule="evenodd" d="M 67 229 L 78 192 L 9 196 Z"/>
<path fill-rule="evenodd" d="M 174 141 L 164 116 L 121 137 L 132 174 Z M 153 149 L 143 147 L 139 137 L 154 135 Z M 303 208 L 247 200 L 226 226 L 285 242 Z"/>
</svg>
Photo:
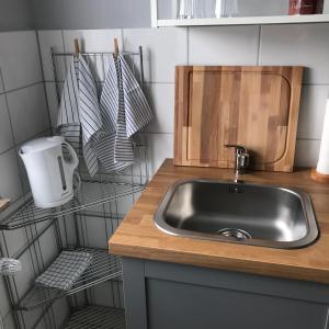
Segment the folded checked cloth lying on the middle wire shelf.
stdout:
<svg viewBox="0 0 329 329">
<path fill-rule="evenodd" d="M 63 251 L 36 280 L 37 285 L 69 291 L 92 261 L 88 252 Z"/>
</svg>

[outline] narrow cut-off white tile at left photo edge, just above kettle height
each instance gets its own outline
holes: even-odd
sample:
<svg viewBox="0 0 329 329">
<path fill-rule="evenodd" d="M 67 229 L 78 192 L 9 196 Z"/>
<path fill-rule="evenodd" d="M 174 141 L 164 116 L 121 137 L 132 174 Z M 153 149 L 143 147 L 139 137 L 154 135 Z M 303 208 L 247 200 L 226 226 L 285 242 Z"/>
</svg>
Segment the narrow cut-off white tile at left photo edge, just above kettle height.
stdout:
<svg viewBox="0 0 329 329">
<path fill-rule="evenodd" d="M 0 95 L 0 154 L 13 147 L 13 136 L 4 94 Z"/>
</svg>

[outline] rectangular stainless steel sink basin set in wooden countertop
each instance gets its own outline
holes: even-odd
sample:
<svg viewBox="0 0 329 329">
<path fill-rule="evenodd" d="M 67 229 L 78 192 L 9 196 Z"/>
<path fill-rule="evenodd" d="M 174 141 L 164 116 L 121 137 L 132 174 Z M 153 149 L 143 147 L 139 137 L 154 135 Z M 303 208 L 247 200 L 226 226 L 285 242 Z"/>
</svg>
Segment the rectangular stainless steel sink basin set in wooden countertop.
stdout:
<svg viewBox="0 0 329 329">
<path fill-rule="evenodd" d="M 318 236 L 307 193 L 298 189 L 179 181 L 155 214 L 167 234 L 271 248 L 302 248 Z"/>
</svg>

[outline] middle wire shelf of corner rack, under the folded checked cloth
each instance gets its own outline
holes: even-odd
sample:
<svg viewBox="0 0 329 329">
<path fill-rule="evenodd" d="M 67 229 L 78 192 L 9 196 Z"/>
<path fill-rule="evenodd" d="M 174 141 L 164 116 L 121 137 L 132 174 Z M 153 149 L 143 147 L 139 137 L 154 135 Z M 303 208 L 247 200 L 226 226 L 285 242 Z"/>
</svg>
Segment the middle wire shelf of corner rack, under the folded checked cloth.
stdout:
<svg viewBox="0 0 329 329">
<path fill-rule="evenodd" d="M 111 279 L 121 280 L 122 263 L 121 258 L 109 254 L 107 250 L 76 248 L 70 251 L 89 252 L 93 260 L 83 274 L 75 282 L 69 291 L 34 285 L 32 290 L 19 302 L 15 309 L 31 310 L 52 304 L 54 299 L 73 295 L 91 286 L 109 281 Z"/>
</svg>

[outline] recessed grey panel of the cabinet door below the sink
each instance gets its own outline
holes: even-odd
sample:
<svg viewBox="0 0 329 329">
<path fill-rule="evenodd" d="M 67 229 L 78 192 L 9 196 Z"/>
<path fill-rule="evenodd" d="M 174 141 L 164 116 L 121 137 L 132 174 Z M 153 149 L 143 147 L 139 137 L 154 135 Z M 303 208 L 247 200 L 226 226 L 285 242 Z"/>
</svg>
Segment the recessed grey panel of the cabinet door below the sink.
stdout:
<svg viewBox="0 0 329 329">
<path fill-rule="evenodd" d="M 147 280 L 148 329 L 326 329 L 328 307 L 163 280 Z"/>
</svg>

